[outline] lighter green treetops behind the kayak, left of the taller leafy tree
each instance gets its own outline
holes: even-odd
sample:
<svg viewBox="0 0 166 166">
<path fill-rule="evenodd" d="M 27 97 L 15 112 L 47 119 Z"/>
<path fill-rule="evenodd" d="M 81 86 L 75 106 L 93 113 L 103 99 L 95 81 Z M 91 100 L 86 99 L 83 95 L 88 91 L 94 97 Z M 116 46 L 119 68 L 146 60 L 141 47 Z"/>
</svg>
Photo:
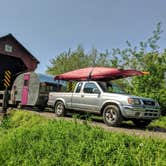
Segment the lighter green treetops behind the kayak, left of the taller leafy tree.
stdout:
<svg viewBox="0 0 166 166">
<path fill-rule="evenodd" d="M 90 54 L 86 54 L 79 45 L 75 51 L 69 49 L 53 58 L 48 67 L 47 73 L 52 75 L 62 74 L 67 71 L 91 66 L 109 66 L 109 52 L 99 53 L 97 49 L 92 48 Z"/>
</svg>

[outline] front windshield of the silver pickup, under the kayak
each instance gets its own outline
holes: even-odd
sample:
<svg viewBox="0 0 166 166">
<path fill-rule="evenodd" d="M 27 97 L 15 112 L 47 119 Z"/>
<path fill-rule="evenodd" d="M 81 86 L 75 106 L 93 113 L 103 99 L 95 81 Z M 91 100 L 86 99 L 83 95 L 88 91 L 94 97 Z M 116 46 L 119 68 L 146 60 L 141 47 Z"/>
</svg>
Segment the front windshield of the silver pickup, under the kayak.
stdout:
<svg viewBox="0 0 166 166">
<path fill-rule="evenodd" d="M 111 82 L 98 82 L 103 92 L 126 94 L 126 92 L 117 84 Z"/>
</svg>

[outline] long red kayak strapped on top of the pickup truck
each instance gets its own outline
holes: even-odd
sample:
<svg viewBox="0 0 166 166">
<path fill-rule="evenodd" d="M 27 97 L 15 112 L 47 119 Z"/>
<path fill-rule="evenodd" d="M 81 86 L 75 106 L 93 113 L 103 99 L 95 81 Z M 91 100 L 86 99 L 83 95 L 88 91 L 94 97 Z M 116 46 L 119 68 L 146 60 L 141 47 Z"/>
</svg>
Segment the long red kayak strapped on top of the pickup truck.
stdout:
<svg viewBox="0 0 166 166">
<path fill-rule="evenodd" d="M 119 78 L 126 78 L 132 76 L 140 76 L 148 74 L 148 72 L 141 72 L 137 70 L 123 70 L 110 67 L 88 67 L 78 70 L 73 70 L 55 77 L 55 80 L 66 81 L 108 81 Z"/>
</svg>

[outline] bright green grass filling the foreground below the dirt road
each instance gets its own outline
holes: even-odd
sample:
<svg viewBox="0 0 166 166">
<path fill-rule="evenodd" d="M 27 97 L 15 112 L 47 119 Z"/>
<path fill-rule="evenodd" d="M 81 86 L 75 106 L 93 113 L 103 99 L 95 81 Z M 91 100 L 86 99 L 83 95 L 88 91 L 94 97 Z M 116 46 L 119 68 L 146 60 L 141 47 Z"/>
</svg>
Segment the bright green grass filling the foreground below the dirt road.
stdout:
<svg viewBox="0 0 166 166">
<path fill-rule="evenodd" d="M 15 111 L 0 127 L 0 165 L 165 166 L 166 140 Z"/>
</svg>

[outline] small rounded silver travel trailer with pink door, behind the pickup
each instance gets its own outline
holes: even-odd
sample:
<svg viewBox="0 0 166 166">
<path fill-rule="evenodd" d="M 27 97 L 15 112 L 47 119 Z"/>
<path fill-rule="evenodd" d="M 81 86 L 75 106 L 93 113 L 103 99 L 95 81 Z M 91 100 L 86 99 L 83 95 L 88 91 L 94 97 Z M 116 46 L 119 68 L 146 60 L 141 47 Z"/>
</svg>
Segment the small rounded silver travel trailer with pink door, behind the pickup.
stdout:
<svg viewBox="0 0 166 166">
<path fill-rule="evenodd" d="M 45 107 L 49 92 L 61 91 L 65 81 L 35 72 L 22 73 L 15 79 L 11 90 L 11 104 Z"/>
</svg>

